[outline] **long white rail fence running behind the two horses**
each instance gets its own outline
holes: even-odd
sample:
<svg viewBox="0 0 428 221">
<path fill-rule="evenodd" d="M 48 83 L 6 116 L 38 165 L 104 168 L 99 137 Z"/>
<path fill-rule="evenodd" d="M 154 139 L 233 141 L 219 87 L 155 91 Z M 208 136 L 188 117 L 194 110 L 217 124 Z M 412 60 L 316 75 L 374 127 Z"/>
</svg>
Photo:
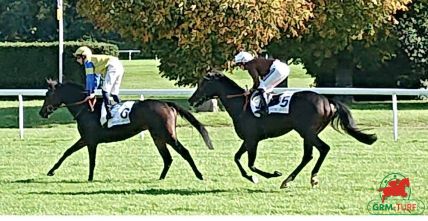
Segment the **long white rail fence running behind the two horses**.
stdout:
<svg viewBox="0 0 428 221">
<path fill-rule="evenodd" d="M 310 90 L 320 94 L 333 95 L 390 95 L 392 96 L 392 120 L 394 141 L 398 140 L 398 107 L 397 96 L 428 96 L 427 89 L 396 89 L 396 88 L 277 88 L 275 92 L 284 90 Z M 195 89 L 122 89 L 121 95 L 147 96 L 187 96 L 190 97 Z M 0 89 L 0 96 L 18 96 L 18 124 L 21 139 L 24 138 L 24 99 L 23 96 L 44 96 L 45 89 Z M 100 91 L 97 91 L 100 95 Z"/>
</svg>

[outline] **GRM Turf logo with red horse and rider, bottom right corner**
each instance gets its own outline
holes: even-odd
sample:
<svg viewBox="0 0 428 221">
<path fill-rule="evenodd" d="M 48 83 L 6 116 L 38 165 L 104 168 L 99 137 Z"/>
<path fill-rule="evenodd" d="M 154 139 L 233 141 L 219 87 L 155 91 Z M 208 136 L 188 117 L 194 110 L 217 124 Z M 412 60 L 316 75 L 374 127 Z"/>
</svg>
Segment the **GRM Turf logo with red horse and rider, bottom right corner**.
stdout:
<svg viewBox="0 0 428 221">
<path fill-rule="evenodd" d="M 376 194 L 379 198 L 367 205 L 373 215 L 420 215 L 425 210 L 423 201 L 411 198 L 409 177 L 400 173 L 391 173 L 383 178 Z"/>
</svg>

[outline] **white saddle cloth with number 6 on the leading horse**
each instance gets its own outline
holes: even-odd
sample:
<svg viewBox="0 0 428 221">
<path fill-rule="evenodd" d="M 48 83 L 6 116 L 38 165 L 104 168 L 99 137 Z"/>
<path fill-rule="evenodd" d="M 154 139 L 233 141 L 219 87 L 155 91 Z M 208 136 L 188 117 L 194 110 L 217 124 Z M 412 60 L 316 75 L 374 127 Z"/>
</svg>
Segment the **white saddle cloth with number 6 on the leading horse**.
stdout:
<svg viewBox="0 0 428 221">
<path fill-rule="evenodd" d="M 100 117 L 101 125 L 104 125 L 107 122 L 107 127 L 111 128 L 117 125 L 129 124 L 131 122 L 129 119 L 129 114 L 131 113 L 133 105 L 134 101 L 126 101 L 125 103 L 115 104 L 111 108 L 111 115 L 113 118 L 109 119 L 107 122 L 107 111 L 105 105 L 102 104 Z"/>
</svg>

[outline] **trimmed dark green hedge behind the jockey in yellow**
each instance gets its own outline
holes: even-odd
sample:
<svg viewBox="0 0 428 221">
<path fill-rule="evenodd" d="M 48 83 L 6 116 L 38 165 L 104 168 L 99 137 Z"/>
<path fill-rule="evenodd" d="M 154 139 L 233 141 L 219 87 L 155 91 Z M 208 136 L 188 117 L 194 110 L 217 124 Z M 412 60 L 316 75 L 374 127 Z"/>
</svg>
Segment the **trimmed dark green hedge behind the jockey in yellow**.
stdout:
<svg viewBox="0 0 428 221">
<path fill-rule="evenodd" d="M 118 47 L 99 42 L 65 42 L 63 81 L 83 84 L 84 69 L 73 57 L 80 46 L 94 54 L 118 55 Z M 46 79 L 58 79 L 58 42 L 0 42 L 0 88 L 46 88 Z"/>
</svg>

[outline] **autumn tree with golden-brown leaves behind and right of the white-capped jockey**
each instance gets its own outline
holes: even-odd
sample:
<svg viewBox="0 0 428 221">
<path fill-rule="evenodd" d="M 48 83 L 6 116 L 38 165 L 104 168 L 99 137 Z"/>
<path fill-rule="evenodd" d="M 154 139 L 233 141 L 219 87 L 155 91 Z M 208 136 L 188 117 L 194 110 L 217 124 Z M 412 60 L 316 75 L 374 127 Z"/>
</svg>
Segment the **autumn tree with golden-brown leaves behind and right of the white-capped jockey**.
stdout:
<svg viewBox="0 0 428 221">
<path fill-rule="evenodd" d="M 410 0 L 313 2 L 314 19 L 308 31 L 298 38 L 283 34 L 268 47 L 270 54 L 299 58 L 318 86 L 344 87 L 352 86 L 354 68 L 376 68 L 394 56 L 393 15 L 406 10 Z"/>
</svg>

